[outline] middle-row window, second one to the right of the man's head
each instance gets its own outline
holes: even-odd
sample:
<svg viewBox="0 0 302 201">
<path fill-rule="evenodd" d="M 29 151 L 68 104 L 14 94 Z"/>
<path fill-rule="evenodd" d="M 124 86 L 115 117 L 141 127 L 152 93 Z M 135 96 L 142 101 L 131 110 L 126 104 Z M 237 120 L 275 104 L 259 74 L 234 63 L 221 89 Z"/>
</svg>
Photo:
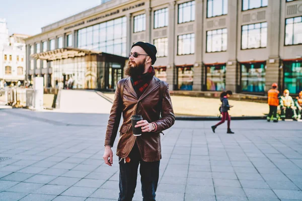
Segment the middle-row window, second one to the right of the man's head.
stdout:
<svg viewBox="0 0 302 201">
<path fill-rule="evenodd" d="M 194 54 L 195 53 L 195 34 L 185 34 L 178 36 L 177 54 Z"/>
</svg>

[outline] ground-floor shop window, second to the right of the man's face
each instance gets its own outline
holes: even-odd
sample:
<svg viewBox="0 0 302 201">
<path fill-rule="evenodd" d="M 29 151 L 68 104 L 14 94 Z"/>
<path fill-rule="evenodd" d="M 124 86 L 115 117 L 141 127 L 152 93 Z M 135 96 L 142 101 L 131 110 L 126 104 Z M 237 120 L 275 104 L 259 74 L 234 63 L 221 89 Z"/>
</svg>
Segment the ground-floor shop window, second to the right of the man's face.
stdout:
<svg viewBox="0 0 302 201">
<path fill-rule="evenodd" d="M 193 90 L 193 66 L 177 66 L 177 89 Z"/>
</svg>

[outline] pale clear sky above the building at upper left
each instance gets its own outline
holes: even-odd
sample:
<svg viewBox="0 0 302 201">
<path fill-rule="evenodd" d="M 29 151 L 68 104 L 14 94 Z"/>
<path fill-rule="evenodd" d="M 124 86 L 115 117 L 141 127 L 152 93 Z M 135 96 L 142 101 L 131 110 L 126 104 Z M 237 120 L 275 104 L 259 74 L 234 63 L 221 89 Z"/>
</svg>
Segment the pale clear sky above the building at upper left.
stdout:
<svg viewBox="0 0 302 201">
<path fill-rule="evenodd" d="M 36 35 L 41 28 L 100 5 L 100 0 L 0 0 L 9 34 Z"/>
</svg>

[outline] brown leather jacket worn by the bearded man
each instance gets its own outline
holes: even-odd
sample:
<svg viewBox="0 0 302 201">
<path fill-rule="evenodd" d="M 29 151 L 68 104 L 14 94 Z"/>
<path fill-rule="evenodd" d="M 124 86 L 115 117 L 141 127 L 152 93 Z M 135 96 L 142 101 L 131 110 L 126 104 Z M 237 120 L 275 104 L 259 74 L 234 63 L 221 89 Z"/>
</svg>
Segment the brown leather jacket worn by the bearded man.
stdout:
<svg viewBox="0 0 302 201">
<path fill-rule="evenodd" d="M 116 155 L 126 158 L 136 141 L 143 161 L 159 161 L 162 158 L 160 133 L 170 128 L 175 122 L 168 90 L 169 84 L 164 82 L 162 107 L 160 107 L 160 80 L 157 77 L 153 77 L 149 86 L 139 98 L 137 98 L 130 77 L 125 80 L 122 97 L 120 87 L 121 81 L 118 81 L 109 116 L 105 145 L 113 146 L 121 114 L 123 114 L 123 124 L 119 130 L 120 137 Z M 160 118 L 160 114 L 162 118 Z M 147 120 L 149 123 L 156 123 L 157 130 L 155 132 L 142 133 L 141 136 L 133 136 L 130 119 L 132 115 L 141 115 L 143 120 Z"/>
</svg>

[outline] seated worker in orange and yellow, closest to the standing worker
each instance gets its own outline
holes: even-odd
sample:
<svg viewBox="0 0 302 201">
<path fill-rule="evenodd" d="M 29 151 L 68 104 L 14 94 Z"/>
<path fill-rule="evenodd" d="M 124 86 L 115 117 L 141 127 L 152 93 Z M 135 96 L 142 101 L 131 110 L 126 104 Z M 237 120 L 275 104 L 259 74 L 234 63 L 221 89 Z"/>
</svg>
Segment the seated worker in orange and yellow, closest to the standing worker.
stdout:
<svg viewBox="0 0 302 201">
<path fill-rule="evenodd" d="M 286 115 L 291 115 L 293 121 L 297 121 L 297 115 L 295 112 L 295 107 L 292 97 L 289 95 L 289 90 L 285 89 L 283 95 L 280 97 L 280 110 L 281 110 L 281 119 L 285 121 Z"/>
</svg>

